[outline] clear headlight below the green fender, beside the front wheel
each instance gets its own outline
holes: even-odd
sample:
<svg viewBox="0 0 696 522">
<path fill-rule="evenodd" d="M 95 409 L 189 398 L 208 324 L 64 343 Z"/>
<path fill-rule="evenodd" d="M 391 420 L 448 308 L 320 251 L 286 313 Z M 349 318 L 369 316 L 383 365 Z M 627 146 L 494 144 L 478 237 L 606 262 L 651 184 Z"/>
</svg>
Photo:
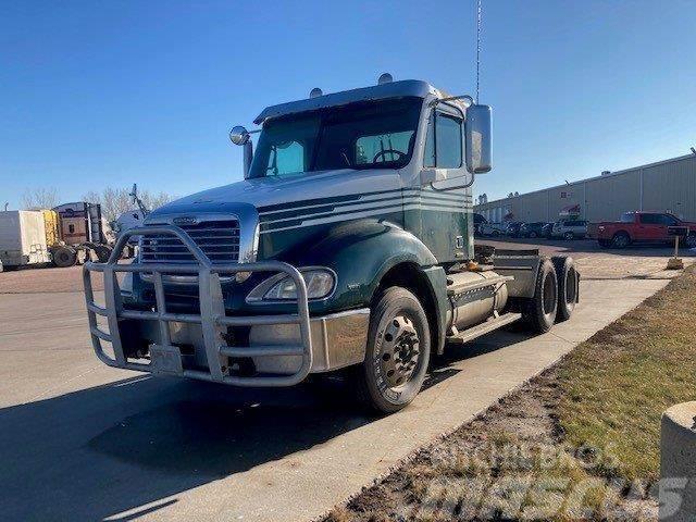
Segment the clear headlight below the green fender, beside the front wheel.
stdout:
<svg viewBox="0 0 696 522">
<path fill-rule="evenodd" d="M 334 291 L 336 275 L 328 269 L 300 269 L 307 285 L 308 299 L 322 299 Z M 257 285 L 247 296 L 247 302 L 286 301 L 297 299 L 293 277 L 276 274 Z"/>
</svg>

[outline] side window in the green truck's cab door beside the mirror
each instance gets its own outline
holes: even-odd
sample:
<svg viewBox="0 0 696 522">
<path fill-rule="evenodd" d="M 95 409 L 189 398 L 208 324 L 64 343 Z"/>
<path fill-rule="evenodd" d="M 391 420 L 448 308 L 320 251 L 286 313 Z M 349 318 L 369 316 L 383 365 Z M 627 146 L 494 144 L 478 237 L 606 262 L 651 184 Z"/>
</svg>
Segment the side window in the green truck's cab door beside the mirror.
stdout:
<svg viewBox="0 0 696 522">
<path fill-rule="evenodd" d="M 435 129 L 433 129 L 435 120 Z M 437 117 L 431 117 L 425 138 L 425 154 L 423 166 L 437 169 L 459 169 L 462 160 L 462 129 L 461 120 L 437 112 Z"/>
</svg>

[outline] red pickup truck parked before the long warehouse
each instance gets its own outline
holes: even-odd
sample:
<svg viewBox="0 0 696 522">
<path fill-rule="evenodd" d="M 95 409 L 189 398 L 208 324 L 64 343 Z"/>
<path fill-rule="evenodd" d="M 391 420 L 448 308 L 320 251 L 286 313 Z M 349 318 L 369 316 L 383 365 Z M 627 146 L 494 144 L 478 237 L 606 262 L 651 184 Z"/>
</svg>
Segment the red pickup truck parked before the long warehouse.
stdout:
<svg viewBox="0 0 696 522">
<path fill-rule="evenodd" d="M 683 226 L 688 234 L 683 243 L 696 247 L 696 223 L 682 221 L 666 212 L 624 212 L 619 221 L 605 221 L 589 227 L 587 234 L 601 247 L 625 248 L 632 243 L 673 241 L 669 227 Z"/>
</svg>

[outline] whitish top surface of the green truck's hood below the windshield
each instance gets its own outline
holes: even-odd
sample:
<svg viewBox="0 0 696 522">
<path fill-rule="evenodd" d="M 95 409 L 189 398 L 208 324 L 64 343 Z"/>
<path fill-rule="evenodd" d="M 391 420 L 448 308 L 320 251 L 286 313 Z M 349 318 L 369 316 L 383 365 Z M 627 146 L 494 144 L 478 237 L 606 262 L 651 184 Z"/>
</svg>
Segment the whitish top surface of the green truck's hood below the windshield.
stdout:
<svg viewBox="0 0 696 522">
<path fill-rule="evenodd" d="M 300 202 L 350 194 L 364 194 L 377 189 L 399 187 L 397 171 L 388 169 L 321 171 L 291 177 L 261 177 L 244 179 L 217 188 L 203 190 L 167 203 L 148 215 L 148 220 L 179 213 L 232 211 L 235 204 L 256 208 Z"/>
</svg>

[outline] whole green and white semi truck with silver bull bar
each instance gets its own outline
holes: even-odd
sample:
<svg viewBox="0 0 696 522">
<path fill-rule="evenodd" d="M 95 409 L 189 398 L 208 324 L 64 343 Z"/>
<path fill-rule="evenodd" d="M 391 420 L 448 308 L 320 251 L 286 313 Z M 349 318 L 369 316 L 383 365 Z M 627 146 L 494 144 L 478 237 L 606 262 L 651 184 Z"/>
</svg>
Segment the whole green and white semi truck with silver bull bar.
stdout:
<svg viewBox="0 0 696 522">
<path fill-rule="evenodd" d="M 153 211 L 108 262 L 85 264 L 105 364 L 233 386 L 340 371 L 357 398 L 389 413 L 413 400 L 446 346 L 517 321 L 543 333 L 572 313 L 570 258 L 474 247 L 489 107 L 382 78 L 314 89 L 254 123 L 231 133 L 244 181 Z M 138 256 L 120 264 L 132 235 Z"/>
</svg>

